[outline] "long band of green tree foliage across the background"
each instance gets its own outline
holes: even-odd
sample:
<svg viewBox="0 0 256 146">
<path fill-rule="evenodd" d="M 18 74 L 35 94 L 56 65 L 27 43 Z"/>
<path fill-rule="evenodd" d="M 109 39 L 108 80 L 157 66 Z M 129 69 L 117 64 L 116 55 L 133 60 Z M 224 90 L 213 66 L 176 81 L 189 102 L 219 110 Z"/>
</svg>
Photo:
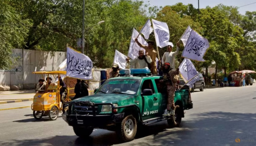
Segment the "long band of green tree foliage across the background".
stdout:
<svg viewBox="0 0 256 146">
<path fill-rule="evenodd" d="M 83 1 L 4 0 L 0 8 L 0 68 L 10 67 L 15 47 L 66 51 L 69 44 L 81 49 L 76 39 L 82 38 Z M 256 11 L 241 15 L 238 7 L 222 4 L 202 8 L 199 15 L 192 4 L 157 7 L 141 0 L 85 0 L 85 54 L 94 66 L 109 68 L 114 50 L 127 55 L 133 28 L 140 31 L 147 19 L 166 22 L 174 45 L 187 26 L 207 38 L 206 61 L 194 62 L 199 71 L 212 61 L 225 71 L 256 69 Z M 149 40 L 155 41 L 154 33 Z M 182 61 L 183 48 L 177 61 Z M 160 56 L 165 51 L 159 48 Z"/>
</svg>

